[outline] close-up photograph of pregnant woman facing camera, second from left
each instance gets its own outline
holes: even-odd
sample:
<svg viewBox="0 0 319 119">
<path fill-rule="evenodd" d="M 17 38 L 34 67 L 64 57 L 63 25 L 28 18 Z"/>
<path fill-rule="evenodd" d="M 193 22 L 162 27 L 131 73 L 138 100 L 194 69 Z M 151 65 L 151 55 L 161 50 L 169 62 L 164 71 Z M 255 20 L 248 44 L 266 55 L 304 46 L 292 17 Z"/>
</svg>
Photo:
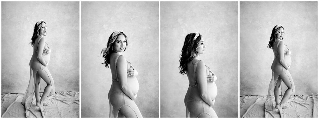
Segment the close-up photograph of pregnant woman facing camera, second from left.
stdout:
<svg viewBox="0 0 319 119">
<path fill-rule="evenodd" d="M 81 117 L 159 117 L 159 2 L 81 2 Z"/>
</svg>

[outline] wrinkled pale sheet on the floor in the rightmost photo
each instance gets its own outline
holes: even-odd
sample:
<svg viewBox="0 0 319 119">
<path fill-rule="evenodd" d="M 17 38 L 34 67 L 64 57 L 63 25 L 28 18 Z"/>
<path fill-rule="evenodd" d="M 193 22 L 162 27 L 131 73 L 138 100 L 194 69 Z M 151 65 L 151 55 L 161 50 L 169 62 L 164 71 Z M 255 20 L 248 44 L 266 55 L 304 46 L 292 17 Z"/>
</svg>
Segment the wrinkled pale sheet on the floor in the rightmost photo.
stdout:
<svg viewBox="0 0 319 119">
<path fill-rule="evenodd" d="M 278 109 L 265 110 L 267 96 L 241 96 L 240 117 L 278 117 Z M 284 117 L 318 117 L 318 95 L 298 95 L 290 98 L 283 109 Z"/>
</svg>

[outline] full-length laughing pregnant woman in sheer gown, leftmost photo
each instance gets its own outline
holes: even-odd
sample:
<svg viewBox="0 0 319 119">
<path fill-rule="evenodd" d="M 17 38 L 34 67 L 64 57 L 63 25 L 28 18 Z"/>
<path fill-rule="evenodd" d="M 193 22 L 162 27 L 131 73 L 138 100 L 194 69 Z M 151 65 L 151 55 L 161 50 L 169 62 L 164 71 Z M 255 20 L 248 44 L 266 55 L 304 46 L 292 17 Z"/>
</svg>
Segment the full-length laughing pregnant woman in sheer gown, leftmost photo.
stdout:
<svg viewBox="0 0 319 119">
<path fill-rule="evenodd" d="M 35 23 L 33 36 L 31 38 L 31 46 L 33 46 L 33 55 L 31 57 L 30 66 L 30 81 L 26 93 L 22 99 L 22 104 L 26 110 L 30 110 L 32 104 L 34 104 L 33 94 L 35 95 L 36 106 L 40 108 L 42 117 L 45 116 L 45 110 L 43 107 L 44 102 L 48 98 L 55 94 L 54 82 L 49 69 L 47 68 L 50 61 L 51 50 L 44 39 L 47 35 L 47 24 L 40 20 Z M 43 94 L 40 99 L 40 81 L 43 79 L 47 86 L 44 88 Z"/>
</svg>

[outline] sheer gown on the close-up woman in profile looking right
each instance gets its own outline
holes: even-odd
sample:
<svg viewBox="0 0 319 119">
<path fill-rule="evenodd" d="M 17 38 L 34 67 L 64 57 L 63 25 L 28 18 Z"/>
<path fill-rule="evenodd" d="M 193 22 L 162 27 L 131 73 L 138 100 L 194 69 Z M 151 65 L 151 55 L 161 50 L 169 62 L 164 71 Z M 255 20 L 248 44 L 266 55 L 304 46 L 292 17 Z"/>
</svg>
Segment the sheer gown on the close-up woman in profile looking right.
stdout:
<svg viewBox="0 0 319 119">
<path fill-rule="evenodd" d="M 197 84 L 197 78 L 196 78 L 196 67 L 199 61 L 200 60 L 197 60 L 196 63 L 194 64 L 195 85 L 194 86 L 189 85 L 189 88 L 187 90 L 187 93 L 184 99 L 185 106 L 186 106 L 186 117 L 188 117 L 188 114 L 190 118 L 199 117 L 200 115 L 203 115 L 203 114 L 207 114 L 211 117 L 218 117 L 217 114 L 215 113 L 215 110 L 211 106 L 209 106 L 206 102 L 204 102 L 204 100 L 200 96 L 198 84 Z M 190 75 L 188 73 L 186 74 Z M 209 75 L 212 76 L 213 74 L 210 68 L 207 66 L 206 66 L 206 74 L 207 76 Z M 207 91 L 209 93 L 209 96 L 214 102 L 217 96 L 216 83 L 207 82 Z"/>
</svg>

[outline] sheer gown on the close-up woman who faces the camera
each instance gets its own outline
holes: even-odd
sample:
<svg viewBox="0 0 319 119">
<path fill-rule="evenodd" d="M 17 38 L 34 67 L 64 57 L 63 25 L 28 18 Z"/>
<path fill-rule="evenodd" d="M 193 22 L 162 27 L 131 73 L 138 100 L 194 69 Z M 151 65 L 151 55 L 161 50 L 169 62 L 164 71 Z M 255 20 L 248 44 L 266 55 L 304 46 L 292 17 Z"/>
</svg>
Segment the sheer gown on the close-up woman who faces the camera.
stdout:
<svg viewBox="0 0 319 119">
<path fill-rule="evenodd" d="M 117 67 L 116 67 L 116 63 L 117 63 L 117 59 L 120 57 L 121 55 L 118 55 L 115 58 L 115 76 L 112 76 L 113 80 L 112 80 L 112 85 L 111 85 L 111 89 L 108 92 L 108 100 L 109 100 L 109 104 L 110 104 L 110 115 L 109 117 L 118 117 L 118 113 L 120 111 L 120 109 L 123 106 L 128 106 L 131 109 L 133 109 L 134 113 L 136 114 L 137 117 L 143 117 L 140 110 L 138 109 L 136 103 L 130 99 L 129 96 L 127 96 L 122 89 L 120 88 L 120 83 L 119 83 L 119 78 L 118 78 L 118 73 L 117 73 Z M 127 62 L 127 61 L 126 61 Z M 132 69 L 132 65 L 130 62 L 127 62 L 127 69 Z M 111 70 L 112 71 L 112 70 Z M 130 86 L 130 89 L 132 90 L 134 95 L 137 95 L 138 89 L 139 89 L 139 85 L 138 85 L 138 81 L 136 77 L 132 77 L 132 76 L 127 76 L 127 83 Z"/>
</svg>

